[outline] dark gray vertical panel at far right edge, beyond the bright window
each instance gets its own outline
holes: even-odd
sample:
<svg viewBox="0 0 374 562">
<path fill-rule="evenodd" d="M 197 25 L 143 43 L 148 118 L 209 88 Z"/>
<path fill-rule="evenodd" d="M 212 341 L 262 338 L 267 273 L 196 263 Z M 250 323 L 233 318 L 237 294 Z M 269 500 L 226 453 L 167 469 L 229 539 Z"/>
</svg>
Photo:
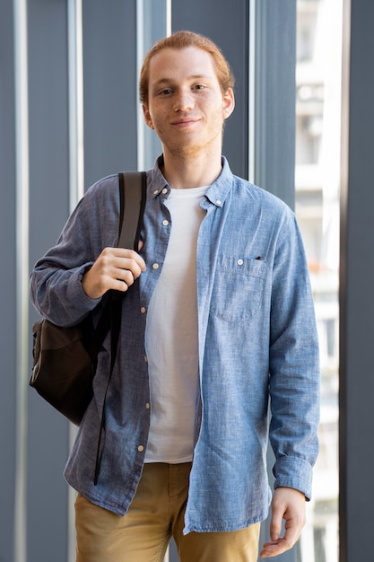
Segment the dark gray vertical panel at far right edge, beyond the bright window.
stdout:
<svg viewBox="0 0 374 562">
<path fill-rule="evenodd" d="M 344 7 L 345 17 L 351 10 L 344 46 L 351 41 L 351 48 L 342 123 L 340 559 L 355 562 L 373 558 L 374 4 Z"/>
</svg>

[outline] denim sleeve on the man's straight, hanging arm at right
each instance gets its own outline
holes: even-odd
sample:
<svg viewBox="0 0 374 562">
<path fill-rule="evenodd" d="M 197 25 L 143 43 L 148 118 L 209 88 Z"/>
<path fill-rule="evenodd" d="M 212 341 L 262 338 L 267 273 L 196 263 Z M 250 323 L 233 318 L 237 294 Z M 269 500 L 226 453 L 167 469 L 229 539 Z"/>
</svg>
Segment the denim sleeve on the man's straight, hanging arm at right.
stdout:
<svg viewBox="0 0 374 562">
<path fill-rule="evenodd" d="M 270 338 L 274 487 L 293 487 L 310 499 L 318 452 L 319 354 L 308 265 L 292 213 L 274 259 Z"/>
</svg>

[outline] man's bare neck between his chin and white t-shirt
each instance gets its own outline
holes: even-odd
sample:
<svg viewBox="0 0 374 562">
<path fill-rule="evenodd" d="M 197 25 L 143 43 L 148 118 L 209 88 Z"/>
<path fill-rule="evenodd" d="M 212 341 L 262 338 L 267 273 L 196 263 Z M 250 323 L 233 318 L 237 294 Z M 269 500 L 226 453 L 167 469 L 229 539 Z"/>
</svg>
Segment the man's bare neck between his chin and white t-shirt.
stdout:
<svg viewBox="0 0 374 562">
<path fill-rule="evenodd" d="M 221 150 L 217 154 L 170 154 L 163 151 L 162 173 L 170 188 L 188 189 L 208 186 L 222 171 Z"/>
</svg>

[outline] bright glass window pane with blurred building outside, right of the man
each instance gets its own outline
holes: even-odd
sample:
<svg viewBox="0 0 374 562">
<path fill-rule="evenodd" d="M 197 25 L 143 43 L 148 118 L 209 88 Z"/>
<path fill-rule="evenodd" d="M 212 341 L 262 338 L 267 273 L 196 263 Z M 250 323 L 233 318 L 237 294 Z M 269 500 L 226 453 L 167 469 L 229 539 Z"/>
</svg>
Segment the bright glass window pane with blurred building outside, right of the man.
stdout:
<svg viewBox="0 0 374 562">
<path fill-rule="evenodd" d="M 321 355 L 320 453 L 300 562 L 338 561 L 338 267 L 343 0 L 297 0 L 295 209 Z"/>
</svg>

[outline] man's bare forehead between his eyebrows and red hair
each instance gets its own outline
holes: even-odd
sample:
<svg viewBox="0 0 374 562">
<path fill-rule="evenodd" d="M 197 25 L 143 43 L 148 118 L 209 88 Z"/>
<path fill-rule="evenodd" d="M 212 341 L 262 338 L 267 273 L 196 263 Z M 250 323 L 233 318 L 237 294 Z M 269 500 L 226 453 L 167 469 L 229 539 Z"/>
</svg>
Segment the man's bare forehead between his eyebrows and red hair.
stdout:
<svg viewBox="0 0 374 562">
<path fill-rule="evenodd" d="M 162 48 L 151 58 L 150 83 L 196 76 L 217 79 L 213 57 L 202 48 Z"/>
</svg>

